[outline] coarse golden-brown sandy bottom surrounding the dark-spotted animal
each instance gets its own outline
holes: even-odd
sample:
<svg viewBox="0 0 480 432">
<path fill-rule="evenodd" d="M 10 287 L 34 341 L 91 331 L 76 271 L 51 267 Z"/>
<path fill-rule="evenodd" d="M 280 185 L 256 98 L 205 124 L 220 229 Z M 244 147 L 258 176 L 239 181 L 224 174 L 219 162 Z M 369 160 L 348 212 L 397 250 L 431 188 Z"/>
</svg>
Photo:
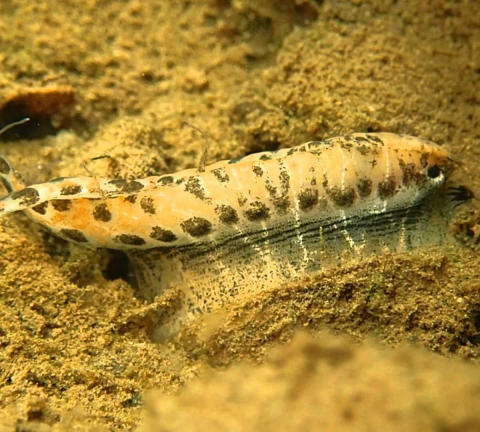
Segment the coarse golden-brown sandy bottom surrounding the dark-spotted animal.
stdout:
<svg viewBox="0 0 480 432">
<path fill-rule="evenodd" d="M 477 0 L 2 0 L 0 127 L 31 121 L 0 153 L 28 183 L 135 178 L 206 141 L 214 162 L 388 131 L 480 195 L 479 41 Z M 126 268 L 0 219 L 0 431 L 480 430 L 478 251 L 346 262 L 164 343 L 171 298 Z"/>
</svg>

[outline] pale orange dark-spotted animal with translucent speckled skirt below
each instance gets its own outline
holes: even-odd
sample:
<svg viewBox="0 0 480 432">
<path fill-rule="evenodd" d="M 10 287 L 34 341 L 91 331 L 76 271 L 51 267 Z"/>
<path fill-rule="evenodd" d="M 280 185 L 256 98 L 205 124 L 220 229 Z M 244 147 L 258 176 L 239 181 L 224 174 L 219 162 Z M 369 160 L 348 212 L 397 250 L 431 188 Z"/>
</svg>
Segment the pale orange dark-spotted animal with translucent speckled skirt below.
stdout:
<svg viewBox="0 0 480 432">
<path fill-rule="evenodd" d="M 18 188 L 1 161 L 7 187 Z M 0 216 L 25 210 L 67 240 L 125 250 L 143 296 L 183 290 L 184 307 L 171 320 L 178 327 L 342 256 L 442 243 L 452 167 L 434 143 L 354 134 L 203 172 L 132 182 L 58 179 L 3 198 Z"/>
</svg>

